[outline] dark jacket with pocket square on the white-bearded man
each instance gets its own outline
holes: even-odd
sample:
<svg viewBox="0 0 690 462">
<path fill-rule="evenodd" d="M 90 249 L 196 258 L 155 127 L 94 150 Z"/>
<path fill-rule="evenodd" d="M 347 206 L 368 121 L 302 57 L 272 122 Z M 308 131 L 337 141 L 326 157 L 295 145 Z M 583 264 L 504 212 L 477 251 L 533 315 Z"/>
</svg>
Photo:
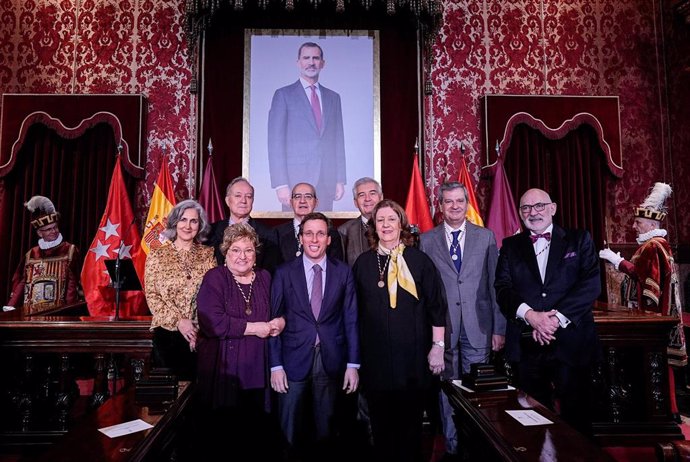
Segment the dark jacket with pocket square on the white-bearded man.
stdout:
<svg viewBox="0 0 690 462">
<path fill-rule="evenodd" d="M 529 231 L 503 240 L 496 268 L 496 300 L 508 320 L 506 359 L 521 359 L 521 342 L 532 342 L 531 327 L 516 318 L 522 303 L 537 311 L 557 309 L 571 324 L 556 331 L 556 357 L 589 364 L 598 354 L 592 305 L 601 292 L 599 258 L 587 231 L 554 225 L 544 282 Z M 524 335 L 523 335 L 524 334 Z"/>
</svg>

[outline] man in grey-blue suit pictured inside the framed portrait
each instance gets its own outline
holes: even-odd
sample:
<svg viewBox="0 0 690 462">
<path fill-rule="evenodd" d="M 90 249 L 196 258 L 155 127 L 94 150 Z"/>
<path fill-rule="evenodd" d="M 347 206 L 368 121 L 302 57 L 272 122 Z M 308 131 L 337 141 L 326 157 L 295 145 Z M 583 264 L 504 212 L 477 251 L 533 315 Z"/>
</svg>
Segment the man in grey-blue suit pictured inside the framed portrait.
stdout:
<svg viewBox="0 0 690 462">
<path fill-rule="evenodd" d="M 268 164 L 271 187 L 283 210 L 290 210 L 290 191 L 300 182 L 316 187 L 319 210 L 333 210 L 343 197 L 345 136 L 340 95 L 319 83 L 326 61 L 313 42 L 299 47 L 299 80 L 273 94 L 268 113 Z"/>
</svg>

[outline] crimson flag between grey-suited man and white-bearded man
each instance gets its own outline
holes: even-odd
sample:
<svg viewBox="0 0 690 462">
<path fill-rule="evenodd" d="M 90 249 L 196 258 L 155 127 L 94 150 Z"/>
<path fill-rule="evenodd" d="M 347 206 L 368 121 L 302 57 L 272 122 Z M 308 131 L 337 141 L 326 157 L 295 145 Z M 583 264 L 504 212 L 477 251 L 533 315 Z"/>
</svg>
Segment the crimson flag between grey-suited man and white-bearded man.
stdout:
<svg viewBox="0 0 690 462">
<path fill-rule="evenodd" d="M 498 158 L 493 170 L 494 185 L 491 190 L 491 205 L 486 226 L 494 232 L 496 243 L 500 249 L 503 238 L 520 232 L 520 218 L 517 215 L 513 193 L 510 192 L 503 159 Z"/>
</svg>

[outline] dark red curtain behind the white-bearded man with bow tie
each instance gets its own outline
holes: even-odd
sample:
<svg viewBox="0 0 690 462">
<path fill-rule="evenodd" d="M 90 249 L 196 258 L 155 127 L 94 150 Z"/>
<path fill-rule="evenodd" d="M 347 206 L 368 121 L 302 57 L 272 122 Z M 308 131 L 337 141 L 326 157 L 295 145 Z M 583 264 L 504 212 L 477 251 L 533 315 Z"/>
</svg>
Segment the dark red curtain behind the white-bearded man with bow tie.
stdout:
<svg viewBox="0 0 690 462">
<path fill-rule="evenodd" d="M 596 132 L 581 125 L 561 139 L 549 139 L 528 125 L 515 127 L 505 155 L 506 175 L 516 202 L 530 188 L 541 188 L 558 204 L 554 221 L 567 228 L 586 229 L 597 248 L 606 230 L 606 185 L 613 179 Z M 606 298 L 603 279 L 601 299 Z"/>
</svg>

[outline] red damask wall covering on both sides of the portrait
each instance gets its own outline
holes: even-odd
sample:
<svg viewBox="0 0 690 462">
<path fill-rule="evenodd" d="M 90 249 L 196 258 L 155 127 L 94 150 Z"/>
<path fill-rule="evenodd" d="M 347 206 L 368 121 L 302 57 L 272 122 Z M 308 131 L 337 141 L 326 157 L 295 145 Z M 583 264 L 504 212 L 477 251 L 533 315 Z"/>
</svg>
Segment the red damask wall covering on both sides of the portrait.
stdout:
<svg viewBox="0 0 690 462">
<path fill-rule="evenodd" d="M 482 95 L 619 95 L 626 173 L 611 187 L 608 223 L 612 242 L 633 242 L 630 207 L 654 181 L 690 191 L 690 135 L 679 134 L 678 126 L 688 119 L 687 109 L 682 112 L 688 51 L 680 50 L 686 65 L 672 69 L 680 74 L 667 88 L 663 31 L 670 20 L 660 18 L 670 12 L 661 8 L 649 0 L 445 1 L 432 49 L 433 95 L 426 99 L 432 199 L 440 181 L 457 177 L 461 141 L 479 180 Z M 197 100 L 190 93 L 183 15 L 183 0 L 0 0 L 0 92 L 148 98 L 147 180 L 135 204 L 140 216 L 164 149 L 176 194 L 187 197 L 195 181 L 189 172 Z M 672 242 L 690 241 L 690 214 L 672 211 L 669 226 Z"/>
</svg>

